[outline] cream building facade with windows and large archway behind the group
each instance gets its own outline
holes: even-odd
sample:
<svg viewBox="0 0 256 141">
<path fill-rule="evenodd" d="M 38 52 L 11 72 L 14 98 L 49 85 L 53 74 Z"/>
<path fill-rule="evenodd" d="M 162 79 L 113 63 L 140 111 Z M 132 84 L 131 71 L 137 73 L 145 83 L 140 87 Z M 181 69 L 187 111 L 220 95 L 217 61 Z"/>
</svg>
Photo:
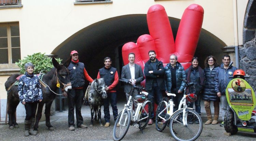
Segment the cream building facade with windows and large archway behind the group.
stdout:
<svg viewBox="0 0 256 141">
<path fill-rule="evenodd" d="M 79 60 L 92 78 L 97 77 L 106 56 L 112 58 L 112 65 L 119 72 L 123 66 L 122 46 L 149 34 L 146 13 L 154 4 L 165 7 L 174 38 L 185 8 L 193 3 L 201 5 L 204 19 L 195 53 L 200 65 L 208 55 L 214 55 L 221 63 L 224 54 L 229 54 L 236 64 L 234 46 L 244 47 L 244 18 L 250 2 L 253 3 L 251 0 L 0 1 L 1 117 L 5 116 L 7 97 L 4 83 L 11 74 L 19 72 L 15 61 L 38 52 L 66 60 L 72 50 L 77 50 Z M 17 116 L 23 115 L 25 109 L 19 104 Z"/>
</svg>

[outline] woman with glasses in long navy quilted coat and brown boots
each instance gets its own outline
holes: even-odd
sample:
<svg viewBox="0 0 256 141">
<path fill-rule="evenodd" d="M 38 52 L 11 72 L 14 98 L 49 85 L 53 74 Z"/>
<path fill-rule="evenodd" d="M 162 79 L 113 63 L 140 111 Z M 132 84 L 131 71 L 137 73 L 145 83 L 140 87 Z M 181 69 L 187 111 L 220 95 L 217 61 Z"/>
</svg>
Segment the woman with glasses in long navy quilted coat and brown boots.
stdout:
<svg viewBox="0 0 256 141">
<path fill-rule="evenodd" d="M 207 121 L 205 122 L 205 125 L 209 124 L 217 124 L 218 118 L 219 118 L 219 97 L 217 96 L 217 93 L 214 90 L 214 77 L 216 74 L 216 70 L 219 68 L 219 65 L 216 61 L 216 58 L 213 56 L 208 56 L 205 59 L 205 85 L 203 90 L 203 96 L 202 99 L 204 100 L 204 107 L 207 114 Z M 237 97 L 237 96 L 235 96 Z M 212 112 L 211 112 L 211 101 L 213 101 L 214 106 L 214 117 L 212 120 Z"/>
</svg>

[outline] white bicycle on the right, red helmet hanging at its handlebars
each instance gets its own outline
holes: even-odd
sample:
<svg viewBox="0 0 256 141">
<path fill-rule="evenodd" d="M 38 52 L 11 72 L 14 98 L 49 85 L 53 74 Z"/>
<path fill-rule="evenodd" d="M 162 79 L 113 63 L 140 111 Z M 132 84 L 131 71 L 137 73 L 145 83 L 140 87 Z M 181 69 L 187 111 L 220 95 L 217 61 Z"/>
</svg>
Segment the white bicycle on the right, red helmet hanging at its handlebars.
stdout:
<svg viewBox="0 0 256 141">
<path fill-rule="evenodd" d="M 166 126 L 170 127 L 172 137 L 177 141 L 194 141 L 196 140 L 203 129 L 203 123 L 200 115 L 188 108 L 188 102 L 196 101 L 195 94 L 186 95 L 186 88 L 193 85 L 186 80 L 186 87 L 184 88 L 183 98 L 180 101 L 179 109 L 173 113 L 173 98 L 175 94 L 167 93 L 170 99 L 163 97 L 156 110 L 156 129 L 162 131 Z M 183 108 L 182 108 L 183 106 Z"/>
</svg>

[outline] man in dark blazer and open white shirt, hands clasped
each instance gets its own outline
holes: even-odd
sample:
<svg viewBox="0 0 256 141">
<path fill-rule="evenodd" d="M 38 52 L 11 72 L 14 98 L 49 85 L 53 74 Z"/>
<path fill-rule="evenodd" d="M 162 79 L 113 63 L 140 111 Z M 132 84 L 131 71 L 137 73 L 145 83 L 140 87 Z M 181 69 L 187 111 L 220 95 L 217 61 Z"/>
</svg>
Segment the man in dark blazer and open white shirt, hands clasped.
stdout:
<svg viewBox="0 0 256 141">
<path fill-rule="evenodd" d="M 136 96 L 138 95 L 138 90 L 134 89 L 132 85 L 140 85 L 140 82 L 144 80 L 144 76 L 142 73 L 142 69 L 140 65 L 137 65 L 134 63 L 135 60 L 135 54 L 130 53 L 128 55 L 129 63 L 122 68 L 122 74 L 121 79 L 125 81 L 130 81 L 130 84 L 125 84 L 125 93 L 126 93 L 126 99 L 129 99 L 129 96 Z M 132 94 L 133 91 L 133 94 Z M 137 103 L 134 102 L 134 109 L 137 108 Z"/>
</svg>

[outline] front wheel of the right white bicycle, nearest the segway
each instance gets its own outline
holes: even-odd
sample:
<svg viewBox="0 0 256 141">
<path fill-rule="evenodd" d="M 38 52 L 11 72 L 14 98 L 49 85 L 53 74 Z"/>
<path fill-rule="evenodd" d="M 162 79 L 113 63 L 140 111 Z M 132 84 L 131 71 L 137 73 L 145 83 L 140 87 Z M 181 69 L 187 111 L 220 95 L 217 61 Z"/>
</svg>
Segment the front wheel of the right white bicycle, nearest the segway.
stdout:
<svg viewBox="0 0 256 141">
<path fill-rule="evenodd" d="M 171 117 L 170 132 L 172 137 L 177 141 L 194 141 L 196 140 L 203 129 L 203 123 L 200 115 L 192 109 L 186 109 L 185 120 L 193 124 L 183 125 L 183 109 L 178 110 Z M 195 122 L 199 121 L 199 124 Z"/>
</svg>

